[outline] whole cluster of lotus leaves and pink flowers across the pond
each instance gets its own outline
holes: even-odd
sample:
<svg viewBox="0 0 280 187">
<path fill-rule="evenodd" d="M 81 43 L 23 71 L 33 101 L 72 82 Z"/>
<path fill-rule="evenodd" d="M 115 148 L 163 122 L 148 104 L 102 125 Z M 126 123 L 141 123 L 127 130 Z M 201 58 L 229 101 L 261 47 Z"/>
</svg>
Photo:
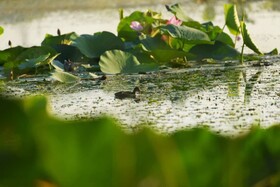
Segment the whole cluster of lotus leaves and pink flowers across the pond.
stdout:
<svg viewBox="0 0 280 187">
<path fill-rule="evenodd" d="M 186 65 L 190 60 L 240 59 L 243 63 L 245 45 L 262 55 L 245 22 L 239 20 L 234 4 L 224 6 L 223 28 L 212 22 L 193 20 L 179 4 L 166 8 L 173 14 L 170 19 L 163 19 L 161 13 L 151 10 L 134 11 L 124 17 L 120 10 L 117 36 L 107 31 L 77 35 L 61 34 L 58 30 L 57 36 L 47 34 L 40 46 L 13 47 L 10 42 L 10 48 L 0 51 L 0 65 L 5 67 L 8 78 L 55 69 L 55 79 L 69 82 L 79 77 L 67 72 L 81 65 L 87 71 L 105 74 L 139 73 L 158 70 L 162 65 Z M 235 49 L 240 38 L 241 52 Z"/>
</svg>

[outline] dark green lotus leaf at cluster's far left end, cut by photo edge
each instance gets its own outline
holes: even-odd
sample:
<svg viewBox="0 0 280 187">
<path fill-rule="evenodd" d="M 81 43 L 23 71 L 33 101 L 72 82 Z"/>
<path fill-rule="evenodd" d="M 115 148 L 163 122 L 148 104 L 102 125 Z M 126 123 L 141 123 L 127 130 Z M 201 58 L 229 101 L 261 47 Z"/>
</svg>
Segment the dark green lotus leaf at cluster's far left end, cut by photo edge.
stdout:
<svg viewBox="0 0 280 187">
<path fill-rule="evenodd" d="M 27 48 L 17 46 L 0 51 L 0 65 L 8 62 L 14 62 L 15 58 L 25 50 L 27 50 Z"/>
</svg>

